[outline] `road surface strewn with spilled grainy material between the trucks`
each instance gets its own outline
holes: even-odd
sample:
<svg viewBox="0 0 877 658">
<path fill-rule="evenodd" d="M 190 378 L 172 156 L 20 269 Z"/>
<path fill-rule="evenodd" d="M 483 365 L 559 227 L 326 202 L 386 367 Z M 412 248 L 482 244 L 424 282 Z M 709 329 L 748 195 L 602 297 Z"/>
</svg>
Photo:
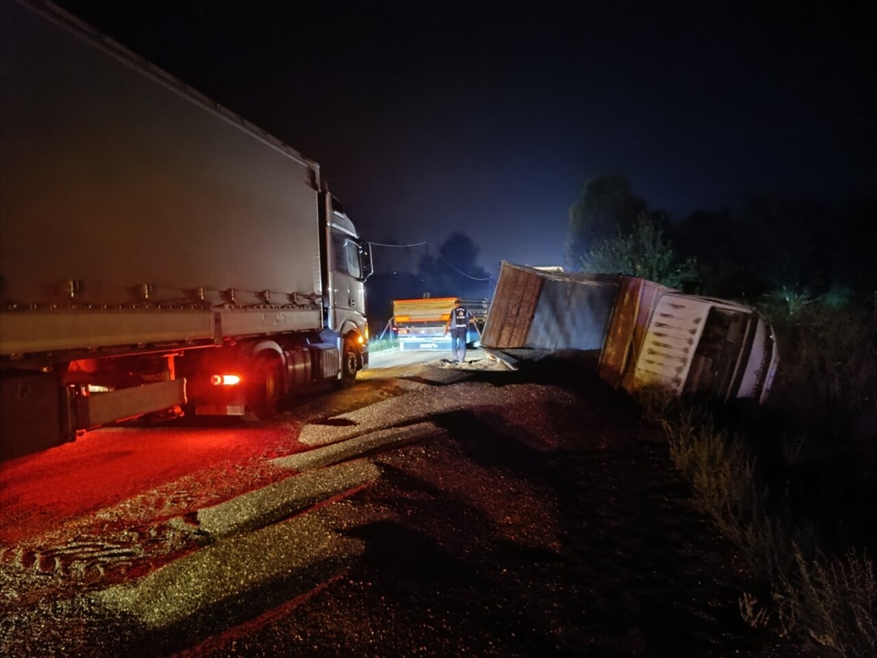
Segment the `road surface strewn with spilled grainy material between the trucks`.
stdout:
<svg viewBox="0 0 877 658">
<path fill-rule="evenodd" d="M 444 356 L 4 463 L 0 654 L 801 655 L 628 398 Z"/>
</svg>

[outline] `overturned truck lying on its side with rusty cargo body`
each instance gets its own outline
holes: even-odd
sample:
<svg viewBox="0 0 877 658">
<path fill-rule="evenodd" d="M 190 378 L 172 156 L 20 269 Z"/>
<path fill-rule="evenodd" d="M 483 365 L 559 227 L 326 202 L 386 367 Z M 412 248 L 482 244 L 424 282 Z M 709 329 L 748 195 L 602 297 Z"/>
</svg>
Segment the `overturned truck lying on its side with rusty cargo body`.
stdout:
<svg viewBox="0 0 877 658">
<path fill-rule="evenodd" d="M 503 361 L 593 354 L 600 377 L 722 400 L 766 398 L 779 355 L 770 325 L 743 304 L 686 295 L 634 276 L 503 262 L 481 347 Z"/>
</svg>

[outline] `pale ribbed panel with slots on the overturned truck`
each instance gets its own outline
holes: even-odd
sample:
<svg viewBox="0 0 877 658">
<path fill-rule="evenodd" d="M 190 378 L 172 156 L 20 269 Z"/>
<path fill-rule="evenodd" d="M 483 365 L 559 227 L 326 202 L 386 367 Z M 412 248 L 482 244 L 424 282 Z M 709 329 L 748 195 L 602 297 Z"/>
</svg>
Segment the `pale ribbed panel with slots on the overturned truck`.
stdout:
<svg viewBox="0 0 877 658">
<path fill-rule="evenodd" d="M 710 306 L 709 301 L 681 294 L 660 297 L 637 360 L 637 388 L 662 384 L 682 392 Z"/>
</svg>

